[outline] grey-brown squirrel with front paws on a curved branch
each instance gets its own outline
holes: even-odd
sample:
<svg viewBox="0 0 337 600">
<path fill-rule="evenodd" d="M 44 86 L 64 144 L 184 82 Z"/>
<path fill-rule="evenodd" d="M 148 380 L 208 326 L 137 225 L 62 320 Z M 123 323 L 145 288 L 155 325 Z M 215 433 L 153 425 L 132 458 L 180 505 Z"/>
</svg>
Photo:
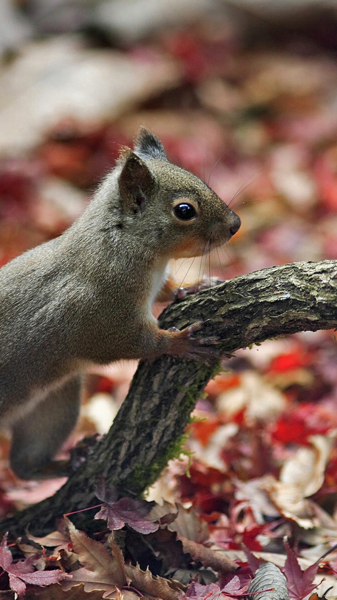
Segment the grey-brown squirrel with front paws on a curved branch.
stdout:
<svg viewBox="0 0 337 600">
<path fill-rule="evenodd" d="M 69 229 L 0 269 L 0 410 L 19 478 L 70 475 L 69 461 L 54 458 L 76 424 L 89 366 L 217 356 L 215 338 L 192 336 L 200 323 L 165 331 L 151 309 L 177 293 L 170 259 L 201 256 L 207 242 L 224 244 L 239 227 L 215 192 L 142 129 Z"/>
</svg>

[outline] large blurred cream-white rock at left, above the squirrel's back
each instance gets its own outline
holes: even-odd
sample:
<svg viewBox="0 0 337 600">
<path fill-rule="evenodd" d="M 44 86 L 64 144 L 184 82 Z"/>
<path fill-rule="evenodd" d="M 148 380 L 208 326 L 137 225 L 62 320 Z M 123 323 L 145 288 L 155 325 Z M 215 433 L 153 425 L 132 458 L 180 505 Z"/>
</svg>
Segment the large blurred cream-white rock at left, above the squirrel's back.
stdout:
<svg viewBox="0 0 337 600">
<path fill-rule="evenodd" d="M 155 51 L 131 58 L 69 36 L 32 43 L 0 68 L 0 152 L 26 151 L 68 116 L 113 120 L 179 77 L 174 61 Z"/>
</svg>

